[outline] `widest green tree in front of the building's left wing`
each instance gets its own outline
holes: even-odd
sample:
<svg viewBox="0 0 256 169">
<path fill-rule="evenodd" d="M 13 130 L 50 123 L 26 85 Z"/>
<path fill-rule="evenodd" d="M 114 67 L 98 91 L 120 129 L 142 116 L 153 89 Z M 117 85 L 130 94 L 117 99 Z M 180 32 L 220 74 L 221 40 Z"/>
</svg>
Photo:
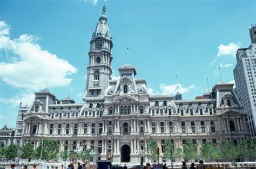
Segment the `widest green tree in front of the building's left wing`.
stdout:
<svg viewBox="0 0 256 169">
<path fill-rule="evenodd" d="M 41 156 L 42 141 L 36 148 L 35 156 L 39 159 Z M 59 145 L 56 140 L 49 140 L 44 138 L 42 160 L 53 160 L 57 158 L 59 153 Z"/>
</svg>

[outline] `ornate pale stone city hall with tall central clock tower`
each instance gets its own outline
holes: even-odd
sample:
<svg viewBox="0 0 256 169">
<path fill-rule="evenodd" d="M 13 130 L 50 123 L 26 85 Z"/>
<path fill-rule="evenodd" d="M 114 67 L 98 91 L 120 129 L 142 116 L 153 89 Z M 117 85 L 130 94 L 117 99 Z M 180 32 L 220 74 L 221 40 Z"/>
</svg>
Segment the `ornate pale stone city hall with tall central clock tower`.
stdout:
<svg viewBox="0 0 256 169">
<path fill-rule="evenodd" d="M 2 144 L 32 142 L 36 148 L 42 136 L 57 140 L 60 151 L 83 151 L 92 147 L 89 143 L 111 147 L 114 162 L 138 163 L 148 161 L 143 150 L 151 138 L 160 149 L 161 163 L 170 161 L 163 158 L 170 133 L 174 147 L 190 138 L 198 151 L 206 140 L 219 145 L 232 138 L 239 144 L 250 137 L 234 84 L 220 81 L 195 100 L 182 100 L 179 93 L 150 95 L 146 80 L 136 78 L 134 66 L 120 66 L 118 79 L 111 79 L 112 47 L 104 6 L 90 41 L 83 102 L 75 103 L 69 96 L 58 100 L 47 88 L 35 92 L 32 106 L 19 108 L 14 136 L 0 136 Z M 79 146 L 79 140 L 85 144 Z M 107 158 L 109 150 L 93 149 L 93 160 Z"/>
</svg>

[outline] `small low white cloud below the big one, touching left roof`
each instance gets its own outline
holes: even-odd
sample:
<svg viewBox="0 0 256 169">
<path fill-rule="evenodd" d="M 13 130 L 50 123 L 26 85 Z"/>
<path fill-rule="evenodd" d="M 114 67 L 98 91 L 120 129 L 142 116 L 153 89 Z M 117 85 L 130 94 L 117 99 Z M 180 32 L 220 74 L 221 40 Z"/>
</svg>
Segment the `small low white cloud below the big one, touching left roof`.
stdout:
<svg viewBox="0 0 256 169">
<path fill-rule="evenodd" d="M 30 105 L 35 98 L 35 94 L 33 92 L 22 92 L 18 93 L 17 95 L 11 97 L 11 98 L 3 98 L 0 97 L 0 102 L 3 104 L 9 105 L 9 107 L 16 107 L 19 105 L 19 103 L 22 101 L 23 105 L 28 104 Z"/>
</svg>

